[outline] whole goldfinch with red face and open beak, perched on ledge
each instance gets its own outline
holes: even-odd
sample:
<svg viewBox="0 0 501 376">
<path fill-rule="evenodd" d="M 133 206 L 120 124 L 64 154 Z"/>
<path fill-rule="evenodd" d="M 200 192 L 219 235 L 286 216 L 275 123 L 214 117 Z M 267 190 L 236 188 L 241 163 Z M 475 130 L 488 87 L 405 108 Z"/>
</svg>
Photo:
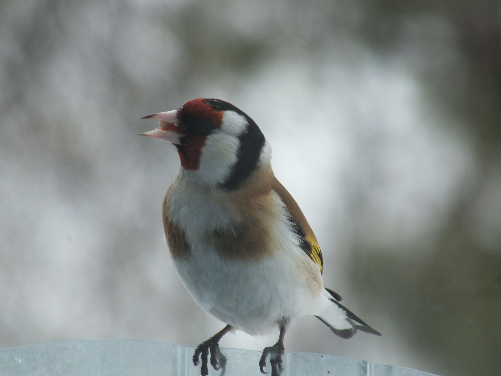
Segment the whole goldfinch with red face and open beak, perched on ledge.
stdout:
<svg viewBox="0 0 501 376">
<path fill-rule="evenodd" d="M 158 128 L 140 133 L 172 143 L 180 169 L 162 202 L 165 239 L 183 285 L 203 310 L 226 326 L 200 343 L 192 360 L 200 374 L 226 365 L 219 340 L 236 330 L 279 331 L 259 361 L 272 376 L 282 370 L 284 336 L 291 321 L 314 315 L 334 334 L 358 330 L 381 335 L 325 288 L 317 238 L 300 207 L 275 177 L 271 146 L 234 105 L 197 98 L 148 115 Z"/>
</svg>

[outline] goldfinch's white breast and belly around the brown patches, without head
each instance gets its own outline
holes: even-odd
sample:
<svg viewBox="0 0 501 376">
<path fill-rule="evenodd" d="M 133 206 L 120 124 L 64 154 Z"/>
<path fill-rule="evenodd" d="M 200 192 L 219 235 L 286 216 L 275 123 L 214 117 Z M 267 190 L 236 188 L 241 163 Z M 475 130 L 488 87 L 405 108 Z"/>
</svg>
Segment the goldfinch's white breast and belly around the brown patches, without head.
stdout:
<svg viewBox="0 0 501 376">
<path fill-rule="evenodd" d="M 274 224 L 276 252 L 259 262 L 235 260 L 216 252 L 203 235 L 231 228 L 235 208 L 190 181 L 177 179 L 167 198 L 170 221 L 185 231 L 190 257 L 175 260 L 183 284 L 195 302 L 219 320 L 249 334 L 267 334 L 284 319 L 311 313 L 322 286 L 312 290 L 308 276 L 318 267 L 301 250 L 284 211 Z"/>
</svg>

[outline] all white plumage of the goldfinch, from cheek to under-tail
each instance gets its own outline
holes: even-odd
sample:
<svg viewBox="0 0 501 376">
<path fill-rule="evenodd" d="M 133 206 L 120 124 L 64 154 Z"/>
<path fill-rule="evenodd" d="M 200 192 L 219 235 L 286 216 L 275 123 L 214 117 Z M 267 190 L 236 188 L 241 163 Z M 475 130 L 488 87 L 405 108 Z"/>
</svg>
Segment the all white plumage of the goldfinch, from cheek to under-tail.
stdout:
<svg viewBox="0 0 501 376">
<path fill-rule="evenodd" d="M 174 260 L 181 281 L 204 310 L 246 333 L 267 334 L 279 323 L 304 315 L 321 315 L 331 326 L 349 329 L 346 313 L 329 300 L 318 265 L 301 249 L 288 212 L 272 192 L 278 212 L 271 225 L 272 255 L 259 262 L 226 258 L 204 239 L 207 232 L 231 231 L 237 208 L 218 187 L 237 160 L 239 136 L 247 129 L 244 116 L 225 111 L 222 124 L 207 136 L 197 170 L 181 170 L 167 197 L 169 220 L 186 235 L 191 252 Z M 259 165 L 271 162 L 268 141 Z"/>
</svg>

